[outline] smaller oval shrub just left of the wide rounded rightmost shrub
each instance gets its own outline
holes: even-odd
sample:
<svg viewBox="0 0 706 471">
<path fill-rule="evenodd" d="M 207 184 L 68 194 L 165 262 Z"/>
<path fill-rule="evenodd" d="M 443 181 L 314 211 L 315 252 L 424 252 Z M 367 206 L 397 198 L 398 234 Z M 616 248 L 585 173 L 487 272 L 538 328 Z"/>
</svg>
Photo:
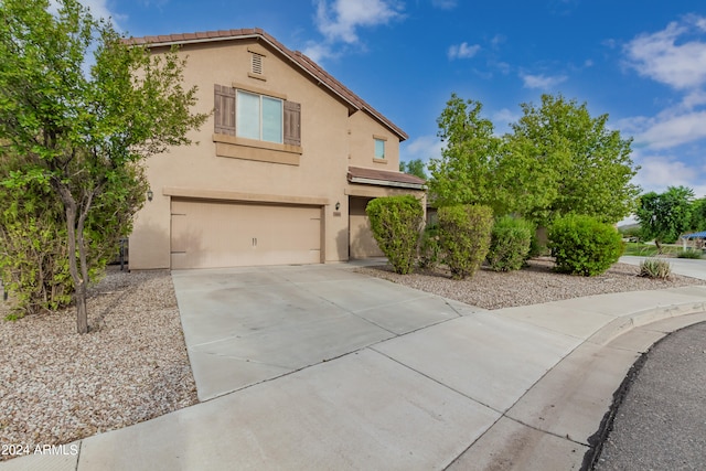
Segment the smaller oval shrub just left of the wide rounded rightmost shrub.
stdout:
<svg viewBox="0 0 706 471">
<path fill-rule="evenodd" d="M 518 217 L 503 216 L 495 221 L 486 256 L 488 265 L 495 271 L 522 268 L 528 258 L 534 232 L 534 224 Z"/>
</svg>

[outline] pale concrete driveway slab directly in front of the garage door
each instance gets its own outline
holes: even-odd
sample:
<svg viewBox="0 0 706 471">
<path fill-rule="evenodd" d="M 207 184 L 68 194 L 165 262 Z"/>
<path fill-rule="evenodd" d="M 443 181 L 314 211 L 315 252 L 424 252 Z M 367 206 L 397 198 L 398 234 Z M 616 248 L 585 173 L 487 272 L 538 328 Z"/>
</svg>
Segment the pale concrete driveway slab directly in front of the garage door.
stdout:
<svg viewBox="0 0 706 471">
<path fill-rule="evenodd" d="M 201 400 L 481 310 L 341 266 L 172 277 Z"/>
</svg>

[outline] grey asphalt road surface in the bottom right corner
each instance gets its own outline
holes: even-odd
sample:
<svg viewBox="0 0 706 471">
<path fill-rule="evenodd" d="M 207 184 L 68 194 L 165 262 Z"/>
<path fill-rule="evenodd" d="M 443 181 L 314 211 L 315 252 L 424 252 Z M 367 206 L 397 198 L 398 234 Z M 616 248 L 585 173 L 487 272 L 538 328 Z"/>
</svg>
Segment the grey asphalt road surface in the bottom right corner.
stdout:
<svg viewBox="0 0 706 471">
<path fill-rule="evenodd" d="M 593 469 L 706 470 L 706 322 L 670 334 L 640 362 Z"/>
</svg>

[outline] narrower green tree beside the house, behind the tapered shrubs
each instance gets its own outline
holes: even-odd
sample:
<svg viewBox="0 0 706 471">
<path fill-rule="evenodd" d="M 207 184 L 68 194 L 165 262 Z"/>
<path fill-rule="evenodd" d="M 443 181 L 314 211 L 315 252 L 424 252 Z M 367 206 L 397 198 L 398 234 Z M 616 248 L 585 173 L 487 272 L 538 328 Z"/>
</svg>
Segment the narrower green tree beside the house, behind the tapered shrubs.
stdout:
<svg viewBox="0 0 706 471">
<path fill-rule="evenodd" d="M 437 119 L 445 142 L 441 157 L 429 161 L 429 194 L 437 206 L 484 204 L 495 206 L 495 168 L 501 139 L 491 120 L 481 117 L 480 101 L 456 94 Z M 495 208 L 495 207 L 493 207 Z"/>
</svg>

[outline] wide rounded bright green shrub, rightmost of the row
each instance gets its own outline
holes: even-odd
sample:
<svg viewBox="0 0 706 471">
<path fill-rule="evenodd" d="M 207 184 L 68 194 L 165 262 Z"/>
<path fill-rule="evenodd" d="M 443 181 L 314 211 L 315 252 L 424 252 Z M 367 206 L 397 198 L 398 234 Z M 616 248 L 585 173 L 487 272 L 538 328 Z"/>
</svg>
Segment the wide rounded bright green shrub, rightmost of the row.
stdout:
<svg viewBox="0 0 706 471">
<path fill-rule="evenodd" d="M 587 277 L 602 274 L 622 254 L 622 238 L 613 226 L 575 214 L 554 222 L 548 246 L 557 271 Z"/>
</svg>

